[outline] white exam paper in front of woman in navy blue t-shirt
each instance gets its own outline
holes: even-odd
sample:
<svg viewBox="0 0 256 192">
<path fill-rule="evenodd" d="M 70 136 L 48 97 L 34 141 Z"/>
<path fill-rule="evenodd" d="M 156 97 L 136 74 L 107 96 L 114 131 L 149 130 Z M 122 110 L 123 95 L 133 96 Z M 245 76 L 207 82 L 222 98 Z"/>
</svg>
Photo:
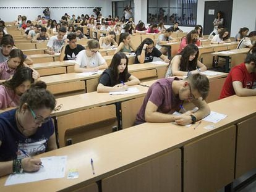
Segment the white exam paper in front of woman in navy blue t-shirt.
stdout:
<svg viewBox="0 0 256 192">
<path fill-rule="evenodd" d="M 37 182 L 49 178 L 65 177 L 67 156 L 51 156 L 41 158 L 43 167 L 34 173 L 12 174 L 6 180 L 5 186 L 19 183 Z"/>
</svg>

